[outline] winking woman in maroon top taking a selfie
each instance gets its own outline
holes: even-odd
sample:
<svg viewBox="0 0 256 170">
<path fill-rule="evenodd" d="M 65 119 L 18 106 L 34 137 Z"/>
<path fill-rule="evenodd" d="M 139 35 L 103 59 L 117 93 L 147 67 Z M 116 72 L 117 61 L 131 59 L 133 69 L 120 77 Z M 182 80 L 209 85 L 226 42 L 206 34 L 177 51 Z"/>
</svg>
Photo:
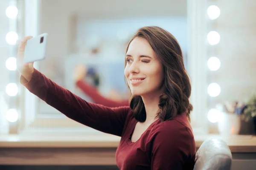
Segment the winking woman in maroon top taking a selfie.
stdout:
<svg viewBox="0 0 256 170">
<path fill-rule="evenodd" d="M 189 123 L 191 85 L 180 46 L 168 31 L 140 28 L 128 44 L 125 78 L 130 107 L 109 108 L 84 101 L 58 86 L 33 63 L 23 64 L 26 37 L 18 49 L 20 82 L 70 119 L 121 136 L 121 170 L 192 170 L 195 140 Z"/>
</svg>

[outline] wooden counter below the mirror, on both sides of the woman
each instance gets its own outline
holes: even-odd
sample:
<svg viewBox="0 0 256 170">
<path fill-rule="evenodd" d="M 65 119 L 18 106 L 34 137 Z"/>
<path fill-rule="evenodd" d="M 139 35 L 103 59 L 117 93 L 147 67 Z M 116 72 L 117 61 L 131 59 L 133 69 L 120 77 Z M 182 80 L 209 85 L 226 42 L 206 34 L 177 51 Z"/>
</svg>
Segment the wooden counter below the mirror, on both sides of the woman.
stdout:
<svg viewBox="0 0 256 170">
<path fill-rule="evenodd" d="M 256 153 L 256 136 L 195 135 L 200 147 L 207 138 L 224 139 L 232 153 Z M 0 136 L 0 164 L 114 165 L 120 138 L 94 136 Z"/>
</svg>

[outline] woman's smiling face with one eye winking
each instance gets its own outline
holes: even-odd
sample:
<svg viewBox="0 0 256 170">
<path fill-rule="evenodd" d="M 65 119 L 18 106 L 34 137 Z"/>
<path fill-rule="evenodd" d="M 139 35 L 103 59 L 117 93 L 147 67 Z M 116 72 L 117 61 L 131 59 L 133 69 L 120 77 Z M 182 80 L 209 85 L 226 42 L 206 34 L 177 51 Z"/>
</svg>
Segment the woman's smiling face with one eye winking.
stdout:
<svg viewBox="0 0 256 170">
<path fill-rule="evenodd" d="M 162 93 L 163 66 L 144 38 L 136 37 L 128 47 L 125 77 L 134 96 Z"/>
</svg>

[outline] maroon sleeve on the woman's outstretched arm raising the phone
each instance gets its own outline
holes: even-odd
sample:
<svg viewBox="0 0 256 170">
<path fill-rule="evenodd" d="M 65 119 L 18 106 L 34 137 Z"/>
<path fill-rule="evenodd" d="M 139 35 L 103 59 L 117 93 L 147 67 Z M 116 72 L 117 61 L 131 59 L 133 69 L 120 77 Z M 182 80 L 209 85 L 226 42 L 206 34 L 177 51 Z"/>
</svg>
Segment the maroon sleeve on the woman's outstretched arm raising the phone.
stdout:
<svg viewBox="0 0 256 170">
<path fill-rule="evenodd" d="M 86 102 L 79 96 L 52 82 L 36 69 L 29 82 L 23 76 L 20 77 L 20 82 L 31 93 L 70 119 L 105 133 L 117 136 L 122 135 L 126 116 L 131 111 L 128 106 L 109 108 Z"/>
</svg>

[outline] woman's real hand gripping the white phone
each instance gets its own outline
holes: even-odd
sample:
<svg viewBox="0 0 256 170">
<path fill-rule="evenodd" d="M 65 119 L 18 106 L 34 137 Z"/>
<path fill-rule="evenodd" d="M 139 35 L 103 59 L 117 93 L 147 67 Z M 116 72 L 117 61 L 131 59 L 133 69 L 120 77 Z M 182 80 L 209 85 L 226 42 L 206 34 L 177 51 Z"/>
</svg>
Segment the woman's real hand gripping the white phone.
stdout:
<svg viewBox="0 0 256 170">
<path fill-rule="evenodd" d="M 17 52 L 17 69 L 20 71 L 20 74 L 25 77 L 27 81 L 30 81 L 32 78 L 32 74 L 34 72 L 34 62 L 23 62 L 24 51 L 27 40 L 32 38 L 32 36 L 24 37 L 20 42 Z"/>
</svg>

